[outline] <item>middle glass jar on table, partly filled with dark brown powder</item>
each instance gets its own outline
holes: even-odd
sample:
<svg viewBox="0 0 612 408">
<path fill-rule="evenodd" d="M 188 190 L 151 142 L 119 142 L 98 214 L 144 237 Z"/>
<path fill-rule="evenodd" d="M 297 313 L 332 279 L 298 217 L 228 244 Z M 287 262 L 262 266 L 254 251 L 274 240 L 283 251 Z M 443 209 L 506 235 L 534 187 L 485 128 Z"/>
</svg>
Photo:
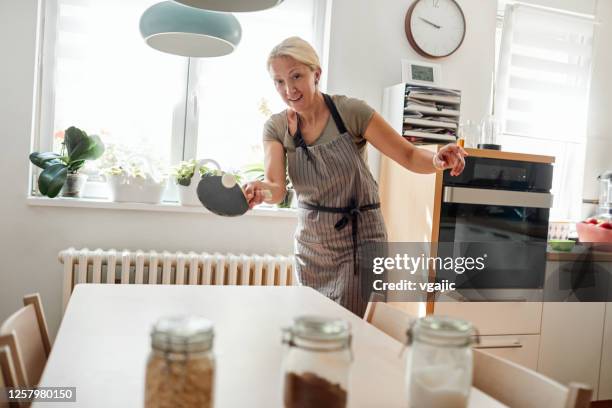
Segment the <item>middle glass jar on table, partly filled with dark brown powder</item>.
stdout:
<svg viewBox="0 0 612 408">
<path fill-rule="evenodd" d="M 302 316 L 284 330 L 285 408 L 344 408 L 351 355 L 350 324 L 344 320 Z"/>
</svg>

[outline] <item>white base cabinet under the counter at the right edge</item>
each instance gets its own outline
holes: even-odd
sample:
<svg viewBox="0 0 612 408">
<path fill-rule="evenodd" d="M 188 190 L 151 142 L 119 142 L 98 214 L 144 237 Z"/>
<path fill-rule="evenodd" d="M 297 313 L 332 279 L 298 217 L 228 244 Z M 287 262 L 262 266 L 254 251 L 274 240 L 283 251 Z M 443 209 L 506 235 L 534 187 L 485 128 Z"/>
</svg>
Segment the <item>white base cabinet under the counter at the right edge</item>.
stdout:
<svg viewBox="0 0 612 408">
<path fill-rule="evenodd" d="M 557 295 L 570 301 L 544 303 L 538 371 L 564 384 L 591 385 L 594 400 L 612 399 L 612 307 L 589 301 L 605 300 L 609 293 L 612 254 L 591 253 L 589 262 L 596 267 L 583 278 L 584 288 L 568 289 L 577 281 L 576 271 L 585 267 L 583 259 L 584 253 L 548 254 L 546 288 L 557 288 Z"/>
</svg>

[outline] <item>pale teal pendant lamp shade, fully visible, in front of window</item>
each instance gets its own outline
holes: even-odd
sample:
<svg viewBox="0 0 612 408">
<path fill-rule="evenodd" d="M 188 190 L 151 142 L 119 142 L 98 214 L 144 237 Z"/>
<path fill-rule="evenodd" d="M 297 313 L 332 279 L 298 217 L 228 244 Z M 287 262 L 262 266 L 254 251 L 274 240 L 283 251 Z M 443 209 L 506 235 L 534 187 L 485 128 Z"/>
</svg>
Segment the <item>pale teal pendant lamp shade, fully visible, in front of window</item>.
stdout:
<svg viewBox="0 0 612 408">
<path fill-rule="evenodd" d="M 219 57 L 234 51 L 242 29 L 229 13 L 164 1 L 140 17 L 140 34 L 156 50 L 184 57 Z"/>
</svg>

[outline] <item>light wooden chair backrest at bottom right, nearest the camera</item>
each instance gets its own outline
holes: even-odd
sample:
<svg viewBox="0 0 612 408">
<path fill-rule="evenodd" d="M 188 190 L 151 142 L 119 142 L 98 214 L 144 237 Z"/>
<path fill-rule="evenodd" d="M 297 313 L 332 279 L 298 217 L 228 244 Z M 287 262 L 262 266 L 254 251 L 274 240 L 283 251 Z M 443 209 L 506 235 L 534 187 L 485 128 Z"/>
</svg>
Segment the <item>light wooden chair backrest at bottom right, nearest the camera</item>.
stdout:
<svg viewBox="0 0 612 408">
<path fill-rule="evenodd" d="M 588 408 L 593 392 L 583 384 L 563 386 L 482 350 L 474 350 L 473 384 L 502 404 L 522 408 Z"/>
</svg>

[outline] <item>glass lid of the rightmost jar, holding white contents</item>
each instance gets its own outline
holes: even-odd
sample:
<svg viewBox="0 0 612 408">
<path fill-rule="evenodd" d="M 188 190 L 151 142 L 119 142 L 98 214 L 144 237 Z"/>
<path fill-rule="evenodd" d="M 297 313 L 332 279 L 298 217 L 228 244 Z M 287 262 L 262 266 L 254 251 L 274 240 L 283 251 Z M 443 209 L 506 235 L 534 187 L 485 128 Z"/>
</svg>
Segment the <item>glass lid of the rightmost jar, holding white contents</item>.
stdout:
<svg viewBox="0 0 612 408">
<path fill-rule="evenodd" d="M 408 338 L 437 346 L 467 346 L 476 330 L 472 323 L 449 316 L 426 316 L 408 330 Z"/>
</svg>

